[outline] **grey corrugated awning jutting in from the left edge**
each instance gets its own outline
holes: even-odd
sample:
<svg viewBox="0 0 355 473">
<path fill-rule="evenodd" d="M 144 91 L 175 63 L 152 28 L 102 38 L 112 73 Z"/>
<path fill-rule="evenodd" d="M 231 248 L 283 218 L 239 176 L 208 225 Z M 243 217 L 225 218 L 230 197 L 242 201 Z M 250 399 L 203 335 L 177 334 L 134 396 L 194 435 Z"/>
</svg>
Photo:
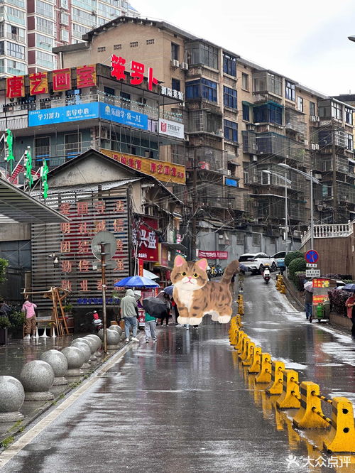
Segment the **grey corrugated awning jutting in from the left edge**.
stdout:
<svg viewBox="0 0 355 473">
<path fill-rule="evenodd" d="M 70 220 L 0 178 L 0 223 L 48 224 Z"/>
</svg>

